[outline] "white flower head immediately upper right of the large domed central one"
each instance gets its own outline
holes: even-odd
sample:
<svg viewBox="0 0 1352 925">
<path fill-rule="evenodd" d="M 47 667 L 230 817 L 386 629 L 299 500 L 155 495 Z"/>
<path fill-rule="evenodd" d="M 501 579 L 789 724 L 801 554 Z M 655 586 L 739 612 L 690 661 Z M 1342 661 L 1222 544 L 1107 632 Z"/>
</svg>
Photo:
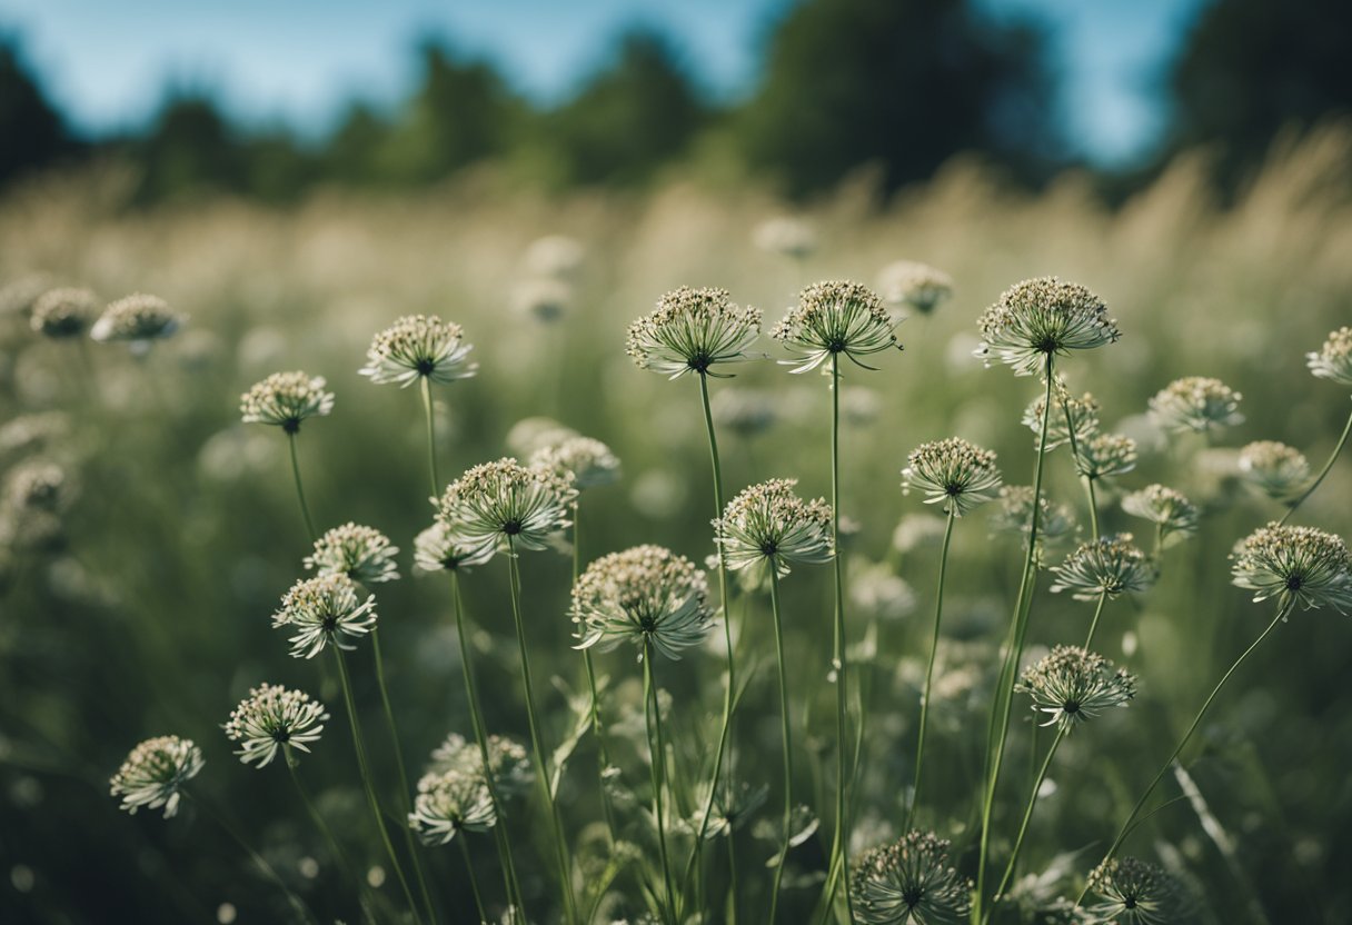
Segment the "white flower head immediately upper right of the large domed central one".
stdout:
<svg viewBox="0 0 1352 925">
<path fill-rule="evenodd" d="M 831 507 L 794 494 L 798 479 L 771 479 L 744 488 L 714 521 L 714 541 L 727 568 L 771 565 L 780 576 L 791 563 L 829 563 Z"/>
</svg>

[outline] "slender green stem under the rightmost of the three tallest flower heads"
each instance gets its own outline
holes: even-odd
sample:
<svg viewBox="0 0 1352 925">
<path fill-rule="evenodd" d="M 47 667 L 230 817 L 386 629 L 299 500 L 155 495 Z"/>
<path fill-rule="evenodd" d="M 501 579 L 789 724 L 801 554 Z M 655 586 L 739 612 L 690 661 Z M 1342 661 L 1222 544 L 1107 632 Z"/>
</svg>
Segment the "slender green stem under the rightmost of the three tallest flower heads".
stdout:
<svg viewBox="0 0 1352 925">
<path fill-rule="evenodd" d="M 1053 354 L 1046 354 L 1046 368 L 1042 371 L 1046 379 L 1046 392 L 1042 396 L 1042 427 L 1037 438 L 1037 462 L 1033 467 L 1033 511 L 1029 519 L 1028 552 L 1023 557 L 1023 573 L 1019 579 L 1018 596 L 1014 602 L 1014 619 L 1011 621 L 1010 636 L 1013 645 L 1005 656 L 1005 665 L 1000 671 L 999 687 L 995 691 L 992 707 L 999 714 L 992 741 L 987 742 L 986 792 L 982 803 L 982 848 L 976 860 L 976 895 L 972 902 L 972 921 L 982 921 L 982 902 L 986 890 L 986 857 L 991 840 L 991 811 L 995 807 L 995 791 L 1000 780 L 1000 765 L 1005 761 L 1005 740 L 1009 737 L 1010 710 L 1014 701 L 1014 682 L 1018 676 L 1019 659 L 1023 655 L 1023 638 L 1028 632 L 1028 614 L 1033 604 L 1033 584 L 1036 583 L 1034 563 L 1037 559 L 1037 527 L 1041 519 L 1042 500 L 1042 460 L 1046 457 L 1046 430 L 1052 412 L 1052 384 Z M 991 746 L 994 745 L 994 752 Z"/>
</svg>

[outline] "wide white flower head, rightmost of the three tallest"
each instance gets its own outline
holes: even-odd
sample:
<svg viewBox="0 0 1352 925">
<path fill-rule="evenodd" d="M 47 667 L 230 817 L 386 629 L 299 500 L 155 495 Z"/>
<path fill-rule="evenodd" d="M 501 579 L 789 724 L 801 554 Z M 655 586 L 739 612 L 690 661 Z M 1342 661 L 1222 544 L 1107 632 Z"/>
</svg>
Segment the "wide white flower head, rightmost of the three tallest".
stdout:
<svg viewBox="0 0 1352 925">
<path fill-rule="evenodd" d="M 1018 376 L 1042 375 L 1051 357 L 1091 350 L 1121 337 L 1102 299 L 1055 276 L 1015 283 L 976 325 L 982 331 L 976 356 L 986 365 L 994 356 Z"/>
</svg>

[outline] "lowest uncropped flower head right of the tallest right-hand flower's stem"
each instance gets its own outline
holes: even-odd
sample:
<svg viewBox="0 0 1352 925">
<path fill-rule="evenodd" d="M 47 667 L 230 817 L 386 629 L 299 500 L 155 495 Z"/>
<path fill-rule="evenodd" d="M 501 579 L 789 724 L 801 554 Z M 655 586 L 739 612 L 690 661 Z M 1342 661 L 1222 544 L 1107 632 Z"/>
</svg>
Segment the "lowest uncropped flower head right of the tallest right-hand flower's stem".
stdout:
<svg viewBox="0 0 1352 925">
<path fill-rule="evenodd" d="M 1105 710 L 1126 706 L 1136 696 L 1136 676 L 1101 655 L 1059 645 L 1023 669 L 1015 690 L 1033 698 L 1034 711 L 1046 714 L 1044 726 L 1055 724 L 1072 732 Z"/>
</svg>

